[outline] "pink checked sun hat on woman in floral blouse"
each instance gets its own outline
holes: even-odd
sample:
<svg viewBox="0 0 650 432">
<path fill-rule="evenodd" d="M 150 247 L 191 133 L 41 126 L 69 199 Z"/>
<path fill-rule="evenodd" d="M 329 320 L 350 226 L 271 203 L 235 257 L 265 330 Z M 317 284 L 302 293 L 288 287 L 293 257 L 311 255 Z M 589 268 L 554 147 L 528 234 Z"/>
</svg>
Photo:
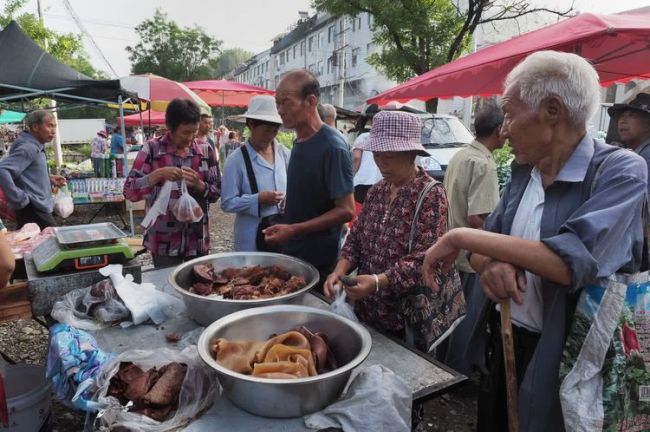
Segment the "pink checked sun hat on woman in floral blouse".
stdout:
<svg viewBox="0 0 650 432">
<path fill-rule="evenodd" d="M 420 156 L 429 156 L 422 145 L 420 119 L 402 111 L 381 111 L 375 115 L 370 138 L 363 149 L 372 152 L 415 151 Z"/>
</svg>

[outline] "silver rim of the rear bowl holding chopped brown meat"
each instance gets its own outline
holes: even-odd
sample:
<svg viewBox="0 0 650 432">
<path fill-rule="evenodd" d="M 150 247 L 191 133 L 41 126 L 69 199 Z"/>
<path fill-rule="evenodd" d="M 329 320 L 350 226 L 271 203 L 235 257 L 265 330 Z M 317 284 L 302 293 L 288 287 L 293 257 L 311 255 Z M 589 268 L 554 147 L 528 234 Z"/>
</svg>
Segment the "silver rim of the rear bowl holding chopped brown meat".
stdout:
<svg viewBox="0 0 650 432">
<path fill-rule="evenodd" d="M 277 297 L 270 297 L 266 299 L 261 299 L 261 300 L 231 300 L 231 299 L 219 299 L 215 297 L 207 297 L 207 296 L 202 296 L 199 294 L 194 294 L 189 292 L 187 289 L 181 287 L 176 283 L 176 275 L 183 270 L 186 267 L 192 267 L 195 264 L 199 264 L 203 261 L 209 261 L 214 258 L 219 258 L 219 257 L 228 257 L 228 256 L 272 256 L 272 257 L 282 257 L 283 259 L 286 259 L 288 261 L 295 261 L 298 264 L 301 264 L 305 267 L 308 268 L 309 272 L 312 273 L 314 276 L 314 279 L 312 282 L 308 283 L 305 287 L 300 288 L 298 291 L 294 291 L 289 294 L 285 294 L 283 296 L 277 296 Z M 279 253 L 273 253 L 273 252 L 220 252 L 216 254 L 210 254 L 210 255 L 204 255 L 198 258 L 194 258 L 193 260 L 190 261 L 185 261 L 183 264 L 179 265 L 174 269 L 173 272 L 169 274 L 169 284 L 174 287 L 176 291 L 178 291 L 181 295 L 187 296 L 187 297 L 193 297 L 197 300 L 200 301 L 205 301 L 205 302 L 214 302 L 214 303 L 230 303 L 230 304 L 237 304 L 237 305 L 247 305 L 254 307 L 255 305 L 261 305 L 264 306 L 267 303 L 275 303 L 278 300 L 288 300 L 294 297 L 298 297 L 305 292 L 309 291 L 311 288 L 313 288 L 320 280 L 320 274 L 318 273 L 318 270 L 316 270 L 316 267 L 313 265 L 309 264 L 306 261 L 303 261 L 301 259 L 289 256 L 289 255 L 284 255 L 284 254 L 279 254 Z"/>
</svg>

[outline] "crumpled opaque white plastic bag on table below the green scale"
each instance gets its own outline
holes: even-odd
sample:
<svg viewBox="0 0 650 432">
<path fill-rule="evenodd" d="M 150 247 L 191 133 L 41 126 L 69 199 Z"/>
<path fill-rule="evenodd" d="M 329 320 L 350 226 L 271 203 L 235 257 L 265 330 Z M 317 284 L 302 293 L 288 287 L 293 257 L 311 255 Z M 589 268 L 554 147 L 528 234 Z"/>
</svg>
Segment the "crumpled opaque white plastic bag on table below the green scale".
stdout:
<svg viewBox="0 0 650 432">
<path fill-rule="evenodd" d="M 99 272 L 111 279 L 117 295 L 131 312 L 131 319 L 135 325 L 150 318 L 154 324 L 160 324 L 167 318 L 165 311 L 169 310 L 170 313 L 173 313 L 173 309 L 178 309 L 175 307 L 176 303 L 181 302 L 181 300 L 157 290 L 151 283 L 137 284 L 133 282 L 132 275 L 122 276 L 121 264 L 108 265 L 99 269 Z M 123 322 L 120 325 L 127 326 L 129 324 Z"/>
</svg>

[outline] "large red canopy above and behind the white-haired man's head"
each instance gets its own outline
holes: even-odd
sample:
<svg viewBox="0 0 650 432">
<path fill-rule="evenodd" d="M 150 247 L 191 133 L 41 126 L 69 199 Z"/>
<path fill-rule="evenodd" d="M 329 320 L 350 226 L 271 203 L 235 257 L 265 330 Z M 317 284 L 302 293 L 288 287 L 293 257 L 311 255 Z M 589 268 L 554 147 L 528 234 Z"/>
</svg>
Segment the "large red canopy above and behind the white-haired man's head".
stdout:
<svg viewBox="0 0 650 432">
<path fill-rule="evenodd" d="M 368 99 L 368 103 L 500 94 L 506 75 L 528 54 L 541 50 L 581 55 L 594 65 L 603 86 L 648 79 L 649 41 L 649 13 L 580 14 L 432 69 Z"/>
</svg>

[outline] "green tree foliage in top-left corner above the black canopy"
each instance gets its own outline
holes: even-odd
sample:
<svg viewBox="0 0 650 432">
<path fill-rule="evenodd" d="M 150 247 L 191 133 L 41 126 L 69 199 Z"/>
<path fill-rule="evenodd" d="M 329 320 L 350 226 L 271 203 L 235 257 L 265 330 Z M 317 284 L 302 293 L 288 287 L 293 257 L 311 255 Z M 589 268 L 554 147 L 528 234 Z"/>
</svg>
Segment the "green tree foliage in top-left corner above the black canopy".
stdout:
<svg viewBox="0 0 650 432">
<path fill-rule="evenodd" d="M 36 15 L 21 12 L 26 3 L 27 0 L 8 0 L 0 12 L 0 26 L 5 27 L 15 20 L 30 38 L 57 60 L 91 78 L 106 78 L 106 74 L 95 69 L 90 63 L 83 50 L 81 36 L 74 33 L 57 33 L 47 28 Z"/>
</svg>

